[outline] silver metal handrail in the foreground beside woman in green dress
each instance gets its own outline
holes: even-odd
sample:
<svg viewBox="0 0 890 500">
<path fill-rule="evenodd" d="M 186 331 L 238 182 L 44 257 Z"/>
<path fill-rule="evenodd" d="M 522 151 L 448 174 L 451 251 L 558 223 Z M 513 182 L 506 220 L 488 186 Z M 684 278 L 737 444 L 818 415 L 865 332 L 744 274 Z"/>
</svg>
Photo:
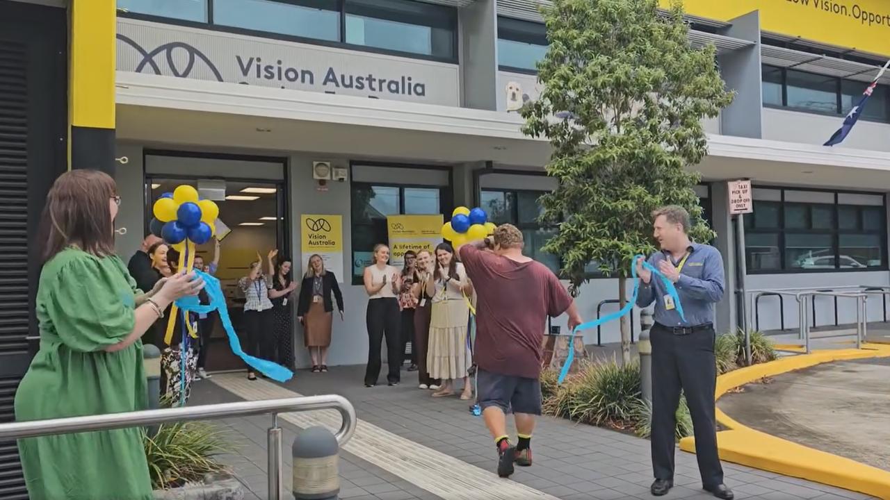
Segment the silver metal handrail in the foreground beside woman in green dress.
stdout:
<svg viewBox="0 0 890 500">
<path fill-rule="evenodd" d="M 336 394 L 0 423 L 0 441 L 85 431 L 143 427 L 157 423 L 215 420 L 231 416 L 271 414 L 272 426 L 269 429 L 268 449 L 269 498 L 271 500 L 280 500 L 283 496 L 283 491 L 281 480 L 281 428 L 278 426 L 278 415 L 281 413 L 322 409 L 336 409 L 343 417 L 343 423 L 340 424 L 340 429 L 335 434 L 337 443 L 342 447 L 355 433 L 358 420 L 356 419 L 355 407 L 352 406 L 352 403 L 343 396 L 337 396 Z"/>
</svg>

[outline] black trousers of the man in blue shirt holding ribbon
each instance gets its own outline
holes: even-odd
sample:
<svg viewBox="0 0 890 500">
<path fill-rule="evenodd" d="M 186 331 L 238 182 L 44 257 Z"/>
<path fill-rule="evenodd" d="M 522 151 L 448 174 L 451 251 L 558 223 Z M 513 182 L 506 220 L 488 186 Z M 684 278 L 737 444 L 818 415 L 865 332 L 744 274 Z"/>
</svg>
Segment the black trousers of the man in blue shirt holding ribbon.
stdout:
<svg viewBox="0 0 890 500">
<path fill-rule="evenodd" d="M 717 455 L 714 390 L 714 327 L 676 335 L 672 328 L 652 326 L 652 471 L 659 480 L 674 479 L 676 408 L 680 391 L 686 396 L 695 433 L 695 457 L 701 484 L 724 482 Z"/>
</svg>

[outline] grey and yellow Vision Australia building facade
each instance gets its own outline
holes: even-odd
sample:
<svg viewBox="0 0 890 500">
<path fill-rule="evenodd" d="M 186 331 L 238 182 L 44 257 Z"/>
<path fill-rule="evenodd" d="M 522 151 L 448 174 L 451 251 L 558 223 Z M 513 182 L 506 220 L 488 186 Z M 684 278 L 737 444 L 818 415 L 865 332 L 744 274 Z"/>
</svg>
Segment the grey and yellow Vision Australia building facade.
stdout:
<svg viewBox="0 0 890 500">
<path fill-rule="evenodd" d="M 548 146 L 523 136 L 513 111 L 539 92 L 540 3 L 0 0 L 7 399 L 27 367 L 28 336 L 36 338 L 23 312 L 39 272 L 28 238 L 49 183 L 66 168 L 115 175 L 124 199 L 117 225 L 128 229 L 117 238 L 124 258 L 139 246 L 160 193 L 180 183 L 216 192 L 231 228 L 220 278 L 233 309 L 231 284 L 256 254 L 279 248 L 299 275 L 312 252 L 303 215 L 336 221 L 342 257 L 330 263 L 346 315 L 334 322 L 332 366 L 367 359 L 360 273 L 373 246 L 386 241 L 387 215 L 483 206 L 497 222 L 521 227 L 530 254 L 558 269 L 558 258 L 540 250 L 554 228 L 536 222 L 537 198 L 554 186 L 543 172 Z M 685 7 L 691 43 L 716 45 L 722 76 L 737 93 L 705 124 L 710 155 L 695 167 L 726 262 L 718 329 L 738 324 L 740 258 L 748 289 L 890 286 L 890 77 L 846 141 L 821 146 L 890 57 L 886 3 L 686 0 Z M 326 166 L 328 179 L 318 179 Z M 726 188 L 740 178 L 755 187 L 743 256 Z M 201 252 L 213 258 L 212 246 Z M 617 293 L 614 279 L 592 275 L 578 297 L 582 315 L 613 310 L 603 301 Z M 878 300 L 870 319 L 883 319 Z M 832 305 L 817 299 L 817 324 L 854 320 L 852 304 Z M 762 301 L 760 328 L 780 326 L 779 307 L 774 298 Z M 793 327 L 797 306 L 783 307 Z M 554 326 L 564 331 L 564 321 Z M 306 366 L 299 327 L 296 335 Z M 587 343 L 618 339 L 616 324 L 599 338 L 585 333 Z M 231 359 L 221 353 L 218 362 L 224 369 Z M 3 411 L 8 419 L 9 405 Z"/>
</svg>

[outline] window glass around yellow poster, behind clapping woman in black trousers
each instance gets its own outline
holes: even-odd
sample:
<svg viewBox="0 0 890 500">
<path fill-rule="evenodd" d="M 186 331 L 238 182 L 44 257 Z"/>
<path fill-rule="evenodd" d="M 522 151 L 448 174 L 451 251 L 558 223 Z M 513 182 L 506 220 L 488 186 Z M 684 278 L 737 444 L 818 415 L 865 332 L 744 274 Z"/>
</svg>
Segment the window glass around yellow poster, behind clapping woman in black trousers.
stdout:
<svg viewBox="0 0 890 500">
<path fill-rule="evenodd" d="M 374 246 L 388 243 L 387 215 L 442 214 L 445 188 L 352 182 L 352 284 L 361 285 Z"/>
</svg>

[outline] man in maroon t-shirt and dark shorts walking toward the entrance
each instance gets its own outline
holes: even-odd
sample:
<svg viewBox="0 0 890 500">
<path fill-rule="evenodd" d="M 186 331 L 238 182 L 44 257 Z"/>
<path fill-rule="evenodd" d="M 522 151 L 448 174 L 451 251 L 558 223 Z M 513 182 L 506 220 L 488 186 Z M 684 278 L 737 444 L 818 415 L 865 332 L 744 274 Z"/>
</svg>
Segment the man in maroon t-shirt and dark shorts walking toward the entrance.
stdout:
<svg viewBox="0 0 890 500">
<path fill-rule="evenodd" d="M 541 415 L 541 341 L 547 316 L 569 314 L 569 329 L 581 324 L 578 308 L 547 267 L 522 254 L 522 231 L 511 224 L 458 250 L 476 290 L 476 349 L 479 405 L 498 445 L 498 475 L 514 463 L 531 465 L 531 432 Z M 506 434 L 513 410 L 518 442 Z"/>
</svg>

